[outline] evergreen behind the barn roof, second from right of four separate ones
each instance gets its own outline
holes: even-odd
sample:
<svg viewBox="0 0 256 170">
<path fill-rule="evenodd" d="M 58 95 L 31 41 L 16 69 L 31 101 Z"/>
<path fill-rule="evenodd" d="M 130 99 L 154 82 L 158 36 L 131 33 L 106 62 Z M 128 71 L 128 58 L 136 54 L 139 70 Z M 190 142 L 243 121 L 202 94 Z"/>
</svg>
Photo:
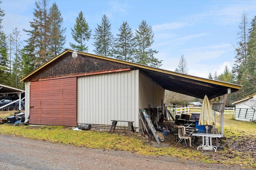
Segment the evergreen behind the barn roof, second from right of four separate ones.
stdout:
<svg viewBox="0 0 256 170">
<path fill-rule="evenodd" d="M 120 31 L 115 38 L 114 54 L 116 59 L 134 62 L 135 42 L 133 39 L 132 29 L 129 27 L 127 21 L 122 23 Z"/>
</svg>

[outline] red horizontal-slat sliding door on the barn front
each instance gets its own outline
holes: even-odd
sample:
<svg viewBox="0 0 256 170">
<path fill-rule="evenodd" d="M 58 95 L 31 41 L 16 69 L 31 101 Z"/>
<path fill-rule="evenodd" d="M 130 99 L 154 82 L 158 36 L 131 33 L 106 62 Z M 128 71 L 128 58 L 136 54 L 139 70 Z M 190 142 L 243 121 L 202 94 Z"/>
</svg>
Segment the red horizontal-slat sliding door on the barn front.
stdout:
<svg viewBox="0 0 256 170">
<path fill-rule="evenodd" d="M 31 82 L 31 124 L 77 126 L 76 120 L 76 77 Z"/>
</svg>

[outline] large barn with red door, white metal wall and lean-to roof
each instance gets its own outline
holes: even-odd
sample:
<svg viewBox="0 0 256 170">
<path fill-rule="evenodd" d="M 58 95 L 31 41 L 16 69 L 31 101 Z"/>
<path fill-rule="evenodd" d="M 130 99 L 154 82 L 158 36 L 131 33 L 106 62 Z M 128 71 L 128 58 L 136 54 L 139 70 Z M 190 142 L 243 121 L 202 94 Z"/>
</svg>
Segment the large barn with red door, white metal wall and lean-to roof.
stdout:
<svg viewBox="0 0 256 170">
<path fill-rule="evenodd" d="M 161 106 L 165 90 L 201 99 L 207 95 L 213 102 L 218 98 L 219 103 L 212 106 L 223 113 L 227 94 L 241 88 L 81 51 L 76 57 L 72 53 L 66 49 L 22 78 L 30 123 L 110 127 L 111 120 L 123 120 L 134 121 L 139 131 L 139 109 Z M 127 125 L 120 122 L 118 127 Z"/>
</svg>

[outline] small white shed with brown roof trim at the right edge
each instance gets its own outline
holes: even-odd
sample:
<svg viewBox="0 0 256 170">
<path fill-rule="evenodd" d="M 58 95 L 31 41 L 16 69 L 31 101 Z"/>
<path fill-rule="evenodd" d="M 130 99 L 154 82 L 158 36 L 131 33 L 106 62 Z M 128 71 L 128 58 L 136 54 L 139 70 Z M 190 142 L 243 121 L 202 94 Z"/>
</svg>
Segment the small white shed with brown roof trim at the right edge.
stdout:
<svg viewBox="0 0 256 170">
<path fill-rule="evenodd" d="M 235 113 L 233 115 L 236 120 L 256 120 L 256 93 L 242 100 L 238 100 L 232 104 L 236 105 Z"/>
</svg>

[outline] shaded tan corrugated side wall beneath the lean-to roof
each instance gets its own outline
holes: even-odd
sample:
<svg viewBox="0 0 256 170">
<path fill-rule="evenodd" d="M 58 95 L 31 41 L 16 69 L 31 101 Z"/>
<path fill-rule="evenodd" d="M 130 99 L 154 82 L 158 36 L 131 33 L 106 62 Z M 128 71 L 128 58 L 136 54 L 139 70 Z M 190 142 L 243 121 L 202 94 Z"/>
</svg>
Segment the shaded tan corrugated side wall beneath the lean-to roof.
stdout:
<svg viewBox="0 0 256 170">
<path fill-rule="evenodd" d="M 161 100 L 164 101 L 164 88 L 156 84 L 152 79 L 140 73 L 140 109 L 161 106 Z"/>
</svg>

